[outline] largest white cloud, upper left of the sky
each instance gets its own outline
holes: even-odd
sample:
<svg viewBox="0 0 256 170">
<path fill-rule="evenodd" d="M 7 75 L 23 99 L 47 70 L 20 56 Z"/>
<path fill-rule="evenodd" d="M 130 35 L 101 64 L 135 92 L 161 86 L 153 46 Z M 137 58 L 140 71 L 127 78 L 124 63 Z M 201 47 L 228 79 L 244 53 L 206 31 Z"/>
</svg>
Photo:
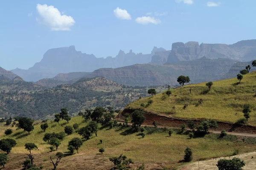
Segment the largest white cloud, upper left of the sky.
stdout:
<svg viewBox="0 0 256 170">
<path fill-rule="evenodd" d="M 38 23 L 48 26 L 53 31 L 68 31 L 75 24 L 73 17 L 61 15 L 61 12 L 54 6 L 37 4 L 36 8 L 41 16 L 41 19 L 36 18 Z"/>
</svg>

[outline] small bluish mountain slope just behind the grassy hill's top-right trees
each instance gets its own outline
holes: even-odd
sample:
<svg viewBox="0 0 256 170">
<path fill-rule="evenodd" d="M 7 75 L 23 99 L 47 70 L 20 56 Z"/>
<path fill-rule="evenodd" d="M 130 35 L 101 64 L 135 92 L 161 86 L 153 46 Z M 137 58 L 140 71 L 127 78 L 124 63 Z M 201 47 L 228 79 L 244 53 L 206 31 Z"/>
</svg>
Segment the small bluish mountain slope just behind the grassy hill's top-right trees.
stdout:
<svg viewBox="0 0 256 170">
<path fill-rule="evenodd" d="M 256 57 L 255 57 L 256 59 Z M 230 79 L 230 78 L 233 78 L 233 77 L 236 77 L 237 74 L 239 74 L 239 72 L 243 69 L 245 69 L 245 67 L 247 65 L 251 65 L 253 61 L 250 61 L 250 62 L 236 62 L 234 65 L 232 65 L 232 67 L 230 68 L 230 70 L 227 72 L 227 74 L 225 74 L 222 79 Z M 251 69 L 250 69 L 250 72 L 251 71 L 255 71 L 256 70 L 256 67 L 252 67 L 251 66 Z"/>
</svg>

